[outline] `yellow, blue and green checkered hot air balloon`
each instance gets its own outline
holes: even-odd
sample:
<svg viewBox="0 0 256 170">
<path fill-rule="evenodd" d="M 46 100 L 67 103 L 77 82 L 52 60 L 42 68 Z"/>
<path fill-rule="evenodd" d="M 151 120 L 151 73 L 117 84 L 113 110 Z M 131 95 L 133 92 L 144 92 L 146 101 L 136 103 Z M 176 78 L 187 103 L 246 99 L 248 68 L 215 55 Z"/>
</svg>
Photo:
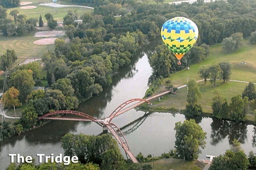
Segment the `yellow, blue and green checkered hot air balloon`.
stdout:
<svg viewBox="0 0 256 170">
<path fill-rule="evenodd" d="M 198 28 L 195 22 L 185 17 L 174 17 L 166 21 L 161 28 L 161 37 L 165 45 L 178 59 L 194 46 L 198 38 Z"/>
</svg>

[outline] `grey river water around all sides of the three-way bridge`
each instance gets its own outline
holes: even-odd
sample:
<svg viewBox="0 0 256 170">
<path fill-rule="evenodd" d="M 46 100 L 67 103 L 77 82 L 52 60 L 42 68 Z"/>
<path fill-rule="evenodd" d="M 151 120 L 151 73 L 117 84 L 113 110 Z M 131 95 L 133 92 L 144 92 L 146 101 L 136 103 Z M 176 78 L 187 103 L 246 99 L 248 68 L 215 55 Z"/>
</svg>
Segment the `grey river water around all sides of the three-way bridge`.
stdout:
<svg viewBox="0 0 256 170">
<path fill-rule="evenodd" d="M 144 49 L 144 52 L 139 52 L 138 57 L 131 61 L 131 66 L 122 69 L 114 77 L 110 87 L 105 88 L 99 96 L 94 96 L 81 103 L 76 110 L 97 118 L 103 118 L 109 116 L 124 101 L 131 98 L 142 98 L 148 88 L 147 80 L 152 72 L 146 55 L 151 52 L 148 49 L 153 48 L 149 45 L 147 49 Z M 144 156 L 153 153 L 154 156 L 160 156 L 161 153 L 173 149 L 175 142 L 174 125 L 175 122 L 184 121 L 184 115 L 144 113 L 132 109 L 114 118 L 112 122 L 123 127 L 140 117 L 142 118 L 137 122 L 122 129 L 134 155 L 142 152 Z M 251 150 L 256 151 L 256 148 L 253 147 L 256 145 L 256 142 L 253 142 L 253 137 L 255 138 L 253 125 L 219 121 L 212 118 L 198 118 L 196 121 L 207 132 L 207 145 L 199 158 L 205 158 L 206 154 L 223 154 L 225 150 L 229 149 L 229 143 L 234 138 L 238 138 L 242 142 L 242 148 L 246 154 Z M 10 164 L 11 159 L 8 154 L 31 155 L 36 158 L 38 163 L 36 154 L 47 156 L 51 153 L 54 155 L 63 154 L 60 140 L 66 133 L 97 135 L 101 132 L 102 128 L 94 122 L 51 121 L 40 128 L 6 139 L 2 147 L 0 146 L 0 169 L 5 169 Z M 121 151 L 124 154 L 122 149 Z"/>
</svg>

